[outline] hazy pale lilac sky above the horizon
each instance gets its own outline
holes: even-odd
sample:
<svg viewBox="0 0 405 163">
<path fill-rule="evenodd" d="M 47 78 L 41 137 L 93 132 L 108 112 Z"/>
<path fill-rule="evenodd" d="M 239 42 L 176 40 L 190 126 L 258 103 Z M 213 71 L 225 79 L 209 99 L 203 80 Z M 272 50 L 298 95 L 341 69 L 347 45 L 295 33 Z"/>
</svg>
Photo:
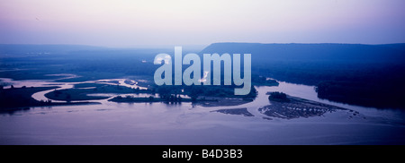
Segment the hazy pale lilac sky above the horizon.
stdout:
<svg viewBox="0 0 405 163">
<path fill-rule="evenodd" d="M 0 43 L 405 42 L 405 0 L 0 0 Z"/>
</svg>

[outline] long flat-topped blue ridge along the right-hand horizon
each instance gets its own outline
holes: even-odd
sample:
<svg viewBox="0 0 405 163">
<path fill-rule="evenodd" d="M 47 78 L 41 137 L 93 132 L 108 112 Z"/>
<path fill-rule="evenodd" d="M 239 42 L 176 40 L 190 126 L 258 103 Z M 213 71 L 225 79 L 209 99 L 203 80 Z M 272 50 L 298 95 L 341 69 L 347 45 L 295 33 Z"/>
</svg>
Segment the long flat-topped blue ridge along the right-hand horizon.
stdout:
<svg viewBox="0 0 405 163">
<path fill-rule="evenodd" d="M 200 54 L 252 54 L 252 62 L 332 61 L 332 62 L 404 62 L 405 43 L 363 44 L 259 44 L 214 43 Z"/>
</svg>

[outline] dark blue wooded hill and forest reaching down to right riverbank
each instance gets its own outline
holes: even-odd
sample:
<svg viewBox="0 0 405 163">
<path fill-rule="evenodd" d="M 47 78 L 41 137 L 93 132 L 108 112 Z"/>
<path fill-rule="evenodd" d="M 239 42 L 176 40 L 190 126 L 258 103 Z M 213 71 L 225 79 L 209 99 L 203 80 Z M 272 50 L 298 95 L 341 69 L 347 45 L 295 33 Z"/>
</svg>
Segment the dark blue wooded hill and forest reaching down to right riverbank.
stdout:
<svg viewBox="0 0 405 163">
<path fill-rule="evenodd" d="M 252 71 L 316 86 L 320 99 L 405 108 L 405 44 L 216 43 L 201 53 L 251 53 Z"/>
</svg>

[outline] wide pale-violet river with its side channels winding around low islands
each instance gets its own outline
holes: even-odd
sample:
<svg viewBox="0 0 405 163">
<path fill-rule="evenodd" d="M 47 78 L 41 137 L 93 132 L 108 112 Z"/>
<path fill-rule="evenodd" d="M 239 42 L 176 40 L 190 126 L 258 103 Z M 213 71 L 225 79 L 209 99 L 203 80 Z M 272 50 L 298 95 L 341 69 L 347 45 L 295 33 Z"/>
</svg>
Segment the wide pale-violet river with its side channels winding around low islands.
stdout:
<svg viewBox="0 0 405 163">
<path fill-rule="evenodd" d="M 71 82 L 1 80 L 14 87 L 49 84 L 62 89 L 72 87 Z M 124 80 L 114 80 L 125 85 Z M 0 115 L 0 144 L 405 144 L 403 110 L 329 102 L 318 99 L 311 86 L 287 82 L 257 90 L 257 99 L 233 107 L 115 103 L 107 99 L 94 100 L 100 102 L 95 105 L 31 107 Z M 322 116 L 269 120 L 258 111 L 259 107 L 271 104 L 267 91 L 283 91 L 359 114 L 336 111 Z M 32 97 L 46 99 L 43 96 L 46 92 L 49 91 Z M 246 107 L 253 116 L 212 112 L 240 107 Z"/>
</svg>

